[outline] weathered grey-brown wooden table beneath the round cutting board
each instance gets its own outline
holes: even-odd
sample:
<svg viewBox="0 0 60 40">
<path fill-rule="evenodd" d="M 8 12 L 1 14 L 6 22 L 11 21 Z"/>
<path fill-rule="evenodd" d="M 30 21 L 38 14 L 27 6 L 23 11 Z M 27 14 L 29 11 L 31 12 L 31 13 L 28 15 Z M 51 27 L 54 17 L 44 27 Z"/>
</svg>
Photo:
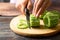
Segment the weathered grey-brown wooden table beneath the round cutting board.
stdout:
<svg viewBox="0 0 60 40">
<path fill-rule="evenodd" d="M 0 40 L 60 40 L 60 33 L 50 37 L 23 37 L 15 34 L 9 27 L 13 17 L 0 17 Z"/>
</svg>

